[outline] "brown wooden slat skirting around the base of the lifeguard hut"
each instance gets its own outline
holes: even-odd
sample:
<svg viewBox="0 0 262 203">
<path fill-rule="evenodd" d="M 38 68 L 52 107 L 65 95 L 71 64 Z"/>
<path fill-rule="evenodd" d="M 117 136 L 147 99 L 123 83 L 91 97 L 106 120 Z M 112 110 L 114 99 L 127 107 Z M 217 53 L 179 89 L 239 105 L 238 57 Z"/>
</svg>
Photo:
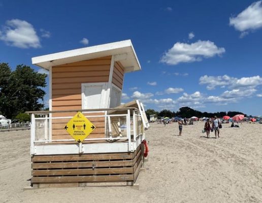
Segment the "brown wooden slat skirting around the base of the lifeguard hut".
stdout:
<svg viewBox="0 0 262 203">
<path fill-rule="evenodd" d="M 141 146 L 133 153 L 38 155 L 31 157 L 33 187 L 135 182 Z"/>
</svg>

